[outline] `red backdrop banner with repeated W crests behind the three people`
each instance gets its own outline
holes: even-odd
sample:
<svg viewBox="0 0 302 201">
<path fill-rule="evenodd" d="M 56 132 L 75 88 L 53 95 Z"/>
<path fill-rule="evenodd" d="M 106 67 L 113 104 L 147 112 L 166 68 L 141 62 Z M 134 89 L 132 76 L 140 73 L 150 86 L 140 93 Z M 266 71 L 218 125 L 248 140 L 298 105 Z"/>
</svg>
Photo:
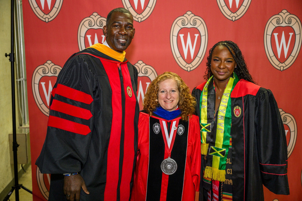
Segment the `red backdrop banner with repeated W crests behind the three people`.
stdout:
<svg viewBox="0 0 302 201">
<path fill-rule="evenodd" d="M 48 199 L 49 174 L 34 164 L 47 129 L 51 89 L 73 53 L 105 37 L 113 8 L 134 18 L 136 34 L 126 58 L 139 71 L 140 105 L 150 82 L 165 71 L 180 75 L 192 90 L 204 82 L 209 49 L 232 40 L 254 80 L 273 92 L 286 130 L 290 195 L 265 188 L 265 200 L 302 200 L 302 1 L 301 0 L 111 0 L 23 1 L 34 200 Z M 53 150 L 56 151 L 56 150 Z"/>
</svg>

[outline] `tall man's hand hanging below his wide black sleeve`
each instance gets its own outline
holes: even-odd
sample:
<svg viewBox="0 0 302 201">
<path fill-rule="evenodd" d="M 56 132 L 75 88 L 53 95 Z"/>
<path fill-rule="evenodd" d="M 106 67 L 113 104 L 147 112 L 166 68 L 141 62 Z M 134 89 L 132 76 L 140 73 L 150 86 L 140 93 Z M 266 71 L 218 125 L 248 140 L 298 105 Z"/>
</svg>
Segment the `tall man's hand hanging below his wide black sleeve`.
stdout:
<svg viewBox="0 0 302 201">
<path fill-rule="evenodd" d="M 86 194 L 89 194 L 85 181 L 80 174 L 64 176 L 64 194 L 66 195 L 67 200 L 79 201 L 81 187 Z"/>
</svg>

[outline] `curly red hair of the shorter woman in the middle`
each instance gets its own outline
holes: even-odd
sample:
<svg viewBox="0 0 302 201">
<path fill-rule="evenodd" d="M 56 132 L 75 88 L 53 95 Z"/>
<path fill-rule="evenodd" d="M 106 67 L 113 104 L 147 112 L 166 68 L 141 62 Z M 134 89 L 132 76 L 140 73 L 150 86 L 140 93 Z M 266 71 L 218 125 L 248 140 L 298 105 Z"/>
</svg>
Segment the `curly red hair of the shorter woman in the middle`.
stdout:
<svg viewBox="0 0 302 201">
<path fill-rule="evenodd" d="M 191 95 L 190 89 L 182 80 L 182 78 L 180 78 L 179 75 L 173 72 L 164 72 L 163 74 L 158 75 L 152 81 L 147 89 L 143 101 L 144 110 L 146 110 L 146 112 L 150 116 L 152 116 L 153 111 L 156 109 L 156 107 L 159 106 L 158 101 L 156 101 L 156 99 L 158 98 L 157 93 L 159 90 L 159 83 L 167 79 L 173 79 L 176 81 L 179 91 L 178 107 L 182 111 L 182 120 L 188 121 L 189 117 L 191 117 L 195 112 L 196 101 L 195 98 Z"/>
</svg>

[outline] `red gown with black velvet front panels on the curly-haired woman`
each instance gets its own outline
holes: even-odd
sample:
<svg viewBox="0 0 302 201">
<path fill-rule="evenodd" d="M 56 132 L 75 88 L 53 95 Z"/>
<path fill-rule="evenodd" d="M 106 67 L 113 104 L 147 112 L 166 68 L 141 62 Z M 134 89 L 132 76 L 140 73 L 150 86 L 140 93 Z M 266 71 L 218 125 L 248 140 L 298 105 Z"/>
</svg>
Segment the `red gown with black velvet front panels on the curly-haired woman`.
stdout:
<svg viewBox="0 0 302 201">
<path fill-rule="evenodd" d="M 168 158 L 161 121 L 166 123 L 167 130 L 171 133 L 171 125 L 177 120 L 177 130 L 173 134 L 175 141 L 173 146 L 173 141 L 170 145 L 170 157 L 176 161 L 177 170 L 174 174 L 167 175 L 161 170 L 162 161 Z M 157 129 L 160 130 L 153 129 L 154 125 L 158 125 Z M 183 132 L 179 132 L 180 127 L 184 129 Z M 154 113 L 149 116 L 144 111 L 140 112 L 137 164 L 131 200 L 194 200 L 200 183 L 199 132 L 198 117 L 195 115 L 188 121 L 181 120 L 180 116 L 165 120 Z"/>
</svg>

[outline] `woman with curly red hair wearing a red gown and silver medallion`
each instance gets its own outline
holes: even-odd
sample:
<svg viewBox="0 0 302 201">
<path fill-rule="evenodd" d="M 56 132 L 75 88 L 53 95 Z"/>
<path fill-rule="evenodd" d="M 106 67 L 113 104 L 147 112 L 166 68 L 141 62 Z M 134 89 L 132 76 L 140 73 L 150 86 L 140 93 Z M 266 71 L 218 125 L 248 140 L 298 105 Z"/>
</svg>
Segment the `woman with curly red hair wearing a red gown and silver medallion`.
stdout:
<svg viewBox="0 0 302 201">
<path fill-rule="evenodd" d="M 157 76 L 139 117 L 131 200 L 194 200 L 201 152 L 196 101 L 177 74 Z"/>
</svg>

